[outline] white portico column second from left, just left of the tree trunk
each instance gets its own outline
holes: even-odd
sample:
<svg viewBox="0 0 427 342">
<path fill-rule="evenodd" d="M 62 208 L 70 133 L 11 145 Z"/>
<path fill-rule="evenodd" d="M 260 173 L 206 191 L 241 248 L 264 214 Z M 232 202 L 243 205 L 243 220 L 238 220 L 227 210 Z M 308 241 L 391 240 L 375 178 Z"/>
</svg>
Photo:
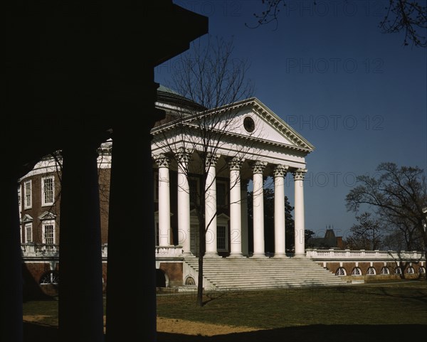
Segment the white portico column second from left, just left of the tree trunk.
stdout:
<svg viewBox="0 0 427 342">
<path fill-rule="evenodd" d="M 188 166 L 191 150 L 181 147 L 176 151 L 178 161 L 178 238 L 184 255 L 191 254 L 190 239 L 190 187 Z"/>
</svg>

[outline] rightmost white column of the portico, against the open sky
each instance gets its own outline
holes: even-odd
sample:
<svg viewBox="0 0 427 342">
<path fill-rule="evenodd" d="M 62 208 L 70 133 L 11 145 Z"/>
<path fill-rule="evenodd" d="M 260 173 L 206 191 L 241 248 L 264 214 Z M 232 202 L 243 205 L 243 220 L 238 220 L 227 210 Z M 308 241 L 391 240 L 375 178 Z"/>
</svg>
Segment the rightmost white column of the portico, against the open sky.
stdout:
<svg viewBox="0 0 427 342">
<path fill-rule="evenodd" d="M 304 176 L 306 169 L 293 171 L 295 181 L 295 257 L 305 255 Z"/>
</svg>

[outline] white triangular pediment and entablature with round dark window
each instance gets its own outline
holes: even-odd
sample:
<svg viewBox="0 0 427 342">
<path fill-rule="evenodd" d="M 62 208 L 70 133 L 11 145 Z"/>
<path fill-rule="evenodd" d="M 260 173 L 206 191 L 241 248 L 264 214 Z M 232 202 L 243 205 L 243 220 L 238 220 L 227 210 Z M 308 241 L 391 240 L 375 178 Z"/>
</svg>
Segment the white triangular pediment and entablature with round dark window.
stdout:
<svg viewBox="0 0 427 342">
<path fill-rule="evenodd" d="M 203 132 L 209 130 L 206 135 Z M 305 168 L 314 146 L 255 97 L 216 109 L 188 114 L 152 129 L 153 154 L 179 147 Z M 208 138 L 206 140 L 206 137 Z M 208 141 L 206 143 L 206 141 Z"/>
</svg>

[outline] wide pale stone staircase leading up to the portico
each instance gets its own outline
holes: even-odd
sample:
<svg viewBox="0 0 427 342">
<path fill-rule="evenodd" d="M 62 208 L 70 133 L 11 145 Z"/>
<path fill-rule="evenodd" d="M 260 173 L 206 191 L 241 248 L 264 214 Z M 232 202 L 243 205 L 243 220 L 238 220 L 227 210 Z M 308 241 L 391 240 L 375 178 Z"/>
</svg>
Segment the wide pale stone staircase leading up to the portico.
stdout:
<svg viewBox="0 0 427 342">
<path fill-rule="evenodd" d="M 184 277 L 197 279 L 199 260 L 185 257 Z M 205 257 L 204 287 L 216 290 L 251 290 L 289 287 L 323 287 L 348 284 L 306 257 Z"/>
</svg>

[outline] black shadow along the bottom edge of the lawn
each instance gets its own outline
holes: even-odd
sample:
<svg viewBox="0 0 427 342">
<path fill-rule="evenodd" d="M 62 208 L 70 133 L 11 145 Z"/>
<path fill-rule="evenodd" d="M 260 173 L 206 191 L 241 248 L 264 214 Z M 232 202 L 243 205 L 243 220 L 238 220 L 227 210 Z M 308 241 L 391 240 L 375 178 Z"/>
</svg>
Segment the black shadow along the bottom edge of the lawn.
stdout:
<svg viewBox="0 0 427 342">
<path fill-rule="evenodd" d="M 312 325 L 230 333 L 217 336 L 189 336 L 178 333 L 158 333 L 157 342 L 401 342 L 408 336 L 426 331 L 427 324 L 399 325 Z"/>
</svg>

